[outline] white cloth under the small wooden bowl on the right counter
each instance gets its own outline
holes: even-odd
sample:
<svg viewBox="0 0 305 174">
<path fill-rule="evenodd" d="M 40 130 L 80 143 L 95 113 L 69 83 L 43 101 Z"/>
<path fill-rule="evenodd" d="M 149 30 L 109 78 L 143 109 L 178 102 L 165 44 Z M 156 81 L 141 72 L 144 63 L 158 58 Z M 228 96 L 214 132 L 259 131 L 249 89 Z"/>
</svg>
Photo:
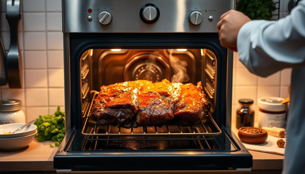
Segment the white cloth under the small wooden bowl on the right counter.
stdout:
<svg viewBox="0 0 305 174">
<path fill-rule="evenodd" d="M 267 140 L 262 144 L 248 144 L 242 143 L 244 146 L 251 151 L 259 151 L 271 154 L 285 155 L 285 148 L 278 147 L 276 142 L 279 139 L 283 139 L 286 142 L 286 138 L 274 137 L 272 135 L 268 135 Z"/>
</svg>

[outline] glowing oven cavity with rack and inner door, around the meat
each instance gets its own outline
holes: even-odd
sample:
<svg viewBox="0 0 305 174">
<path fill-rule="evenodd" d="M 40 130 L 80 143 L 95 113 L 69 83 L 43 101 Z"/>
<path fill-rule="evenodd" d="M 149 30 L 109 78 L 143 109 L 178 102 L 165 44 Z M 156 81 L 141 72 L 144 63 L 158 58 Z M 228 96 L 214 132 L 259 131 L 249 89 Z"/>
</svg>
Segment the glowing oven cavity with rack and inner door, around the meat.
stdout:
<svg viewBox="0 0 305 174">
<path fill-rule="evenodd" d="M 209 49 L 89 49 L 80 59 L 82 130 L 76 130 L 67 151 L 237 151 L 238 146 L 213 117 L 217 94 L 217 57 Z M 178 76 L 177 74 L 182 74 Z M 202 122 L 188 127 L 118 128 L 97 126 L 88 118 L 102 85 L 130 80 L 202 81 L 211 109 Z M 78 133 L 77 133 L 78 132 Z"/>
</svg>

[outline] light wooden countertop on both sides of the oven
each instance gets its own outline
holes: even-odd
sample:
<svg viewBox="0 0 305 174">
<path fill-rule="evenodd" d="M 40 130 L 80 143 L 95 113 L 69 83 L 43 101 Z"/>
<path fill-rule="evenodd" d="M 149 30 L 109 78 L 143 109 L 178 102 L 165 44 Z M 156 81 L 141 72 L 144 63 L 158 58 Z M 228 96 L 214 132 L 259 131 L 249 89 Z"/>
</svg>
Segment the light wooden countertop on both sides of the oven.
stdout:
<svg viewBox="0 0 305 174">
<path fill-rule="evenodd" d="M 233 132 L 237 135 L 235 125 Z M 52 171 L 53 157 L 57 147 L 50 148 L 51 141 L 37 142 L 34 140 L 28 147 L 19 151 L 0 151 L 0 171 Z M 253 156 L 252 170 L 281 170 L 284 156 L 249 151 Z"/>
</svg>

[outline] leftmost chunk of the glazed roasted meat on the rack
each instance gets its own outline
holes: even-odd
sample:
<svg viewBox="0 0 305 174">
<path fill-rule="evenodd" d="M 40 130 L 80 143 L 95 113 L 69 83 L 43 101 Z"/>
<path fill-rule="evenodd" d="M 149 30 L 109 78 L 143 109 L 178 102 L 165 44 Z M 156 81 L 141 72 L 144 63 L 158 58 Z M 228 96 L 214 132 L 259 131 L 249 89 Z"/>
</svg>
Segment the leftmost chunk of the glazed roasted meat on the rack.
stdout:
<svg viewBox="0 0 305 174">
<path fill-rule="evenodd" d="M 130 128 L 133 124 L 135 127 L 133 117 L 138 111 L 139 94 L 151 84 L 151 81 L 137 80 L 102 86 L 89 117 L 98 126 L 110 124 Z"/>
</svg>

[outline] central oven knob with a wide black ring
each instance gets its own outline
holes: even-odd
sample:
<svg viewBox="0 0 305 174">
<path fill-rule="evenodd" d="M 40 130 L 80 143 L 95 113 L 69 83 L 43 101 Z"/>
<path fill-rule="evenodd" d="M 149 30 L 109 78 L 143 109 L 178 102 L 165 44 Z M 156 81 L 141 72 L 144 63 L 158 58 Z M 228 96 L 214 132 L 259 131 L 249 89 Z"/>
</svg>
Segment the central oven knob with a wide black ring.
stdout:
<svg viewBox="0 0 305 174">
<path fill-rule="evenodd" d="M 140 10 L 140 18 L 145 23 L 155 23 L 160 16 L 158 7 L 154 4 L 145 4 Z"/>
</svg>

